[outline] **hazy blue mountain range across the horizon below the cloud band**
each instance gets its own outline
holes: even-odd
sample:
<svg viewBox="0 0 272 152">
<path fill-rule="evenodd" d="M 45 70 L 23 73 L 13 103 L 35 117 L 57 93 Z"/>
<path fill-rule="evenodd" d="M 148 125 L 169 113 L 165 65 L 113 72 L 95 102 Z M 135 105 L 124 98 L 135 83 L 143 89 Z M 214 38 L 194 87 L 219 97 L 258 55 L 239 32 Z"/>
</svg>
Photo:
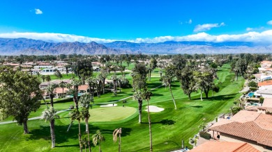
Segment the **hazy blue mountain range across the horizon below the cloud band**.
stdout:
<svg viewBox="0 0 272 152">
<path fill-rule="evenodd" d="M 133 43 L 115 41 L 96 42 L 45 42 L 26 38 L 0 38 L 0 55 L 59 55 L 59 54 L 176 54 L 176 53 L 271 53 L 271 44 L 252 42 L 159 42 Z"/>
</svg>

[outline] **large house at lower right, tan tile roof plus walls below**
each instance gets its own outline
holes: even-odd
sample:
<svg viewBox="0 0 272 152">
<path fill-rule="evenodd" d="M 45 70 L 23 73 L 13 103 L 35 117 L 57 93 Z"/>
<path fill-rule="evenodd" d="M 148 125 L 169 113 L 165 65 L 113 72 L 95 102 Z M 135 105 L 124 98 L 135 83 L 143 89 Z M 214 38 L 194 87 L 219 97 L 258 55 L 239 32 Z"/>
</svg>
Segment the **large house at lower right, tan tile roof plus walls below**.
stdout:
<svg viewBox="0 0 272 152">
<path fill-rule="evenodd" d="M 220 119 L 209 128 L 220 141 L 247 142 L 259 151 L 272 151 L 272 115 L 241 110 L 231 119 Z"/>
</svg>

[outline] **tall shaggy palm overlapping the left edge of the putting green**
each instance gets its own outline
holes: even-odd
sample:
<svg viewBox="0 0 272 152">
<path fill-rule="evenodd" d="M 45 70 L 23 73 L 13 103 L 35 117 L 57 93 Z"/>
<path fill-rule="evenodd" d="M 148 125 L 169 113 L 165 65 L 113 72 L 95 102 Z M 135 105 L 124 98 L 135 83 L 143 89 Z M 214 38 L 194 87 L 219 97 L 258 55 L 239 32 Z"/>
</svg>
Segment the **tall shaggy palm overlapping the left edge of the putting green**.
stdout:
<svg viewBox="0 0 272 152">
<path fill-rule="evenodd" d="M 89 114 L 89 105 L 90 103 L 93 102 L 93 96 L 91 94 L 84 94 L 83 96 L 80 97 L 80 105 L 83 107 L 82 108 L 82 116 L 84 117 L 85 124 L 86 124 L 86 133 L 88 135 L 88 146 L 89 146 L 89 151 L 91 151 L 91 146 L 90 146 L 90 137 L 89 137 L 89 117 L 91 116 Z"/>
</svg>

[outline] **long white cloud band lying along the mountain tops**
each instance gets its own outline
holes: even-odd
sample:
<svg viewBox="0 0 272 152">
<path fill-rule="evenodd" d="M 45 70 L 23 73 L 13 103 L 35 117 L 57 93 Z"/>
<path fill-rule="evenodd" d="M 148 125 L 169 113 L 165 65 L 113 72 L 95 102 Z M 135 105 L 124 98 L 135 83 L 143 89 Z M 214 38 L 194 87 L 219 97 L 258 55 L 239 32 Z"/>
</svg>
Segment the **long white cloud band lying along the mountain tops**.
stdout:
<svg viewBox="0 0 272 152">
<path fill-rule="evenodd" d="M 20 38 L 25 37 L 33 40 L 43 40 L 47 42 L 98 42 L 107 43 L 114 42 L 116 40 L 101 39 L 96 37 L 84 37 L 79 35 L 61 34 L 61 33 L 0 33 L 0 37 L 3 38 Z M 186 36 L 160 36 L 153 38 L 137 38 L 135 40 L 126 40 L 128 42 L 146 42 L 146 43 L 156 43 L 165 41 L 204 41 L 204 42 L 262 42 L 262 43 L 272 43 L 272 30 L 255 32 L 250 31 L 248 33 L 237 34 L 237 35 L 209 35 L 207 33 L 197 33 L 193 35 Z"/>
</svg>

